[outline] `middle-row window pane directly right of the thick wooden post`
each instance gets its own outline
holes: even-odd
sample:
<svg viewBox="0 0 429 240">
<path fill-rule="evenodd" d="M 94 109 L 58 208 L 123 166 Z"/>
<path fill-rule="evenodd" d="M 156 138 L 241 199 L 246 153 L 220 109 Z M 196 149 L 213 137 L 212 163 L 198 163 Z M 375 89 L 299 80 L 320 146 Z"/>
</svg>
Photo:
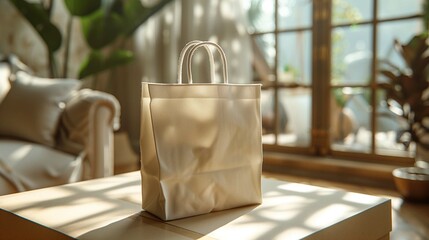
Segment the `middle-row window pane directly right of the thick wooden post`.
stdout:
<svg viewBox="0 0 429 240">
<path fill-rule="evenodd" d="M 371 76 L 371 26 L 332 31 L 332 84 L 367 84 Z"/>
</svg>

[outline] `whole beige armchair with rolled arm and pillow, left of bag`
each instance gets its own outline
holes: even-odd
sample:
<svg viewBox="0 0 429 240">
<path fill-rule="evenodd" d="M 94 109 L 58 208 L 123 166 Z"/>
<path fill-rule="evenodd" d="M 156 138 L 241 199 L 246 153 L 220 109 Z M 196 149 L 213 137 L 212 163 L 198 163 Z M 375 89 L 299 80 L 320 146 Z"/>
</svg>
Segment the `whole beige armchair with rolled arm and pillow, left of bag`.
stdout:
<svg viewBox="0 0 429 240">
<path fill-rule="evenodd" d="M 0 63 L 0 195 L 113 175 L 117 99 L 13 67 Z"/>
</svg>

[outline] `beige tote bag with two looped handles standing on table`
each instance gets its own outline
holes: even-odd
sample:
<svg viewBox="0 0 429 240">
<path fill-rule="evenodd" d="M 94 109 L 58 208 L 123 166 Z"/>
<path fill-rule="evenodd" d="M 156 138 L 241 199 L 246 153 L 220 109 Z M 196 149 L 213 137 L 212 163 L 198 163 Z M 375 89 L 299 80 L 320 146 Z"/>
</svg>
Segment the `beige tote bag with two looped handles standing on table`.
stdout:
<svg viewBox="0 0 429 240">
<path fill-rule="evenodd" d="M 192 83 L 191 58 L 201 46 L 208 49 L 212 75 L 208 46 L 220 53 L 224 83 Z M 229 84 L 223 50 L 201 41 L 182 50 L 177 84 L 142 83 L 144 210 L 172 220 L 261 203 L 260 91 L 259 84 Z"/>
</svg>

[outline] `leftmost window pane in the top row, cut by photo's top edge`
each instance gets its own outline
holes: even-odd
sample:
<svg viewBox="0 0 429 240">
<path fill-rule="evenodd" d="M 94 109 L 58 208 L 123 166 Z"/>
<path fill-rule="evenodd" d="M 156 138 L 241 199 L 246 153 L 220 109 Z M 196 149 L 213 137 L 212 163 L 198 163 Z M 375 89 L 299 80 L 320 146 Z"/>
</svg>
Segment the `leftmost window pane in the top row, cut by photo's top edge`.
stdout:
<svg viewBox="0 0 429 240">
<path fill-rule="evenodd" d="M 245 0 L 251 32 L 274 31 L 275 0 Z"/>
</svg>

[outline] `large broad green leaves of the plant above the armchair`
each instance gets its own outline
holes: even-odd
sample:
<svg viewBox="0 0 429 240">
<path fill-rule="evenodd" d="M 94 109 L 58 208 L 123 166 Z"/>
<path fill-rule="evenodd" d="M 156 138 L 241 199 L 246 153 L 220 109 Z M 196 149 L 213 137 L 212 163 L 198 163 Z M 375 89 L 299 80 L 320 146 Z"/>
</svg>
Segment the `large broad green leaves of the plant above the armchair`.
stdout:
<svg viewBox="0 0 429 240">
<path fill-rule="evenodd" d="M 77 77 L 82 79 L 133 60 L 133 53 L 124 49 L 124 39 L 131 36 L 150 16 L 172 0 L 160 0 L 146 6 L 140 0 L 64 0 L 70 16 L 62 31 L 51 21 L 53 4 L 57 1 L 9 0 L 28 20 L 46 45 L 50 77 L 68 77 L 67 66 L 71 25 L 78 19 L 90 52 L 80 66 Z M 64 45 L 64 65 L 57 66 L 59 48 Z"/>
</svg>

